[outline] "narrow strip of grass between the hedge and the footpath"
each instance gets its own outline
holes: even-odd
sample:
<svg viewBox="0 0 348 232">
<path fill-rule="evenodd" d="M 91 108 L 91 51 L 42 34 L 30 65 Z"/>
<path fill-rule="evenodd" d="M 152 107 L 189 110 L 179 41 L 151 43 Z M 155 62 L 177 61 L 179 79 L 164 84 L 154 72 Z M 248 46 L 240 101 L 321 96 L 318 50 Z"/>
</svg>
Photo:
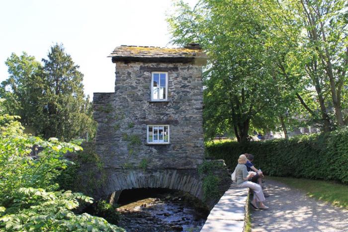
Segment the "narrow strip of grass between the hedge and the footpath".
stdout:
<svg viewBox="0 0 348 232">
<path fill-rule="evenodd" d="M 331 203 L 334 206 L 348 209 L 348 185 L 335 181 L 297 179 L 289 177 L 271 177 L 290 187 L 301 189 L 310 197 Z"/>
</svg>

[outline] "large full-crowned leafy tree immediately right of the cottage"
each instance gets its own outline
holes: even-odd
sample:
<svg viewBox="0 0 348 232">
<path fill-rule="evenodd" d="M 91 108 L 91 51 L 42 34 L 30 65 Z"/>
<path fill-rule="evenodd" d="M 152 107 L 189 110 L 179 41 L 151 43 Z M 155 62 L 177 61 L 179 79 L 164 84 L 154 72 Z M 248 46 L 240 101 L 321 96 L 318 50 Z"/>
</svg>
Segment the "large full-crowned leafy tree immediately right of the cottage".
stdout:
<svg viewBox="0 0 348 232">
<path fill-rule="evenodd" d="M 244 142 L 253 123 L 266 126 L 265 118 L 277 115 L 277 82 L 264 59 L 268 29 L 254 6 L 247 0 L 204 0 L 190 9 L 181 1 L 168 20 L 174 43 L 197 41 L 211 58 L 204 73 L 209 137 L 232 129 Z"/>
</svg>

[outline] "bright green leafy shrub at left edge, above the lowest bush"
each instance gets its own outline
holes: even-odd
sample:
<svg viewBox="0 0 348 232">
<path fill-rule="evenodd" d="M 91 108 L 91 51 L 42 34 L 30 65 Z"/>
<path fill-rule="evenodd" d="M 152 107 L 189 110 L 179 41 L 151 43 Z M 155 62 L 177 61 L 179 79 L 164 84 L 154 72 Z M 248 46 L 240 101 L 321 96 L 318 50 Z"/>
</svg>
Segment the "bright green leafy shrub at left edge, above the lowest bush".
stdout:
<svg viewBox="0 0 348 232">
<path fill-rule="evenodd" d="M 64 153 L 81 147 L 57 138 L 48 141 L 23 133 L 15 117 L 0 115 L 0 204 L 8 206 L 19 188 L 45 188 L 55 190 L 54 179 L 71 162 L 62 159 Z M 30 157 L 34 145 L 43 147 L 37 157 Z"/>
</svg>

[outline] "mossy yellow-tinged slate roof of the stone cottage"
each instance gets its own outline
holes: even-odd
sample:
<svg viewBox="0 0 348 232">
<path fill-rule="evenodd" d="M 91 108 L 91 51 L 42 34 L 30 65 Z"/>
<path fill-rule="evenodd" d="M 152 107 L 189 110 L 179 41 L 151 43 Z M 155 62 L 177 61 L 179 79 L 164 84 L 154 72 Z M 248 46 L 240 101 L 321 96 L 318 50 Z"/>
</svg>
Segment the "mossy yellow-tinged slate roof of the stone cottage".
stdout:
<svg viewBox="0 0 348 232">
<path fill-rule="evenodd" d="M 117 58 L 208 58 L 208 56 L 197 47 L 194 48 L 166 48 L 147 46 L 126 46 L 116 47 L 108 57 Z"/>
</svg>

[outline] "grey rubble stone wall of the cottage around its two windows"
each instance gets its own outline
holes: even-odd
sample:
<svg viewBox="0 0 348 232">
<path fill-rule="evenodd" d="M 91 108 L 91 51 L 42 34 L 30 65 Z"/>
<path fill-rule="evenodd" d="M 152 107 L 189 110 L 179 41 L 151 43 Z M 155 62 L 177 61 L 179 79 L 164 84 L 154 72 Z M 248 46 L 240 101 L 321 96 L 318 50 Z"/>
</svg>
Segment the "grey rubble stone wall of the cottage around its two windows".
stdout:
<svg viewBox="0 0 348 232">
<path fill-rule="evenodd" d="M 168 102 L 151 102 L 151 72 L 168 72 Z M 195 169 L 203 162 L 202 68 L 116 62 L 115 93 L 94 93 L 96 152 L 107 169 Z M 147 124 L 169 124 L 170 144 L 149 145 Z"/>
</svg>

